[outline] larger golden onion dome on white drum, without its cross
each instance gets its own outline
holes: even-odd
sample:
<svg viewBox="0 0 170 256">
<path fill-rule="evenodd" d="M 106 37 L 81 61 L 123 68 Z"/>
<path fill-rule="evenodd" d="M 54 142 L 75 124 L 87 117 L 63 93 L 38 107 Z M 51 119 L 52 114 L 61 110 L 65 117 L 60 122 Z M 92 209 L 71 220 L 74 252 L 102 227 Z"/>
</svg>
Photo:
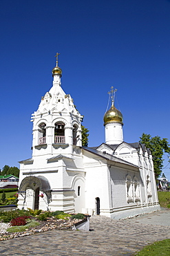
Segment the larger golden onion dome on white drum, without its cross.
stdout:
<svg viewBox="0 0 170 256">
<path fill-rule="evenodd" d="M 123 115 L 116 107 L 114 107 L 114 104 L 112 104 L 111 108 L 105 113 L 104 116 L 104 125 L 107 125 L 110 122 L 119 122 L 121 125 L 123 125 Z"/>
</svg>

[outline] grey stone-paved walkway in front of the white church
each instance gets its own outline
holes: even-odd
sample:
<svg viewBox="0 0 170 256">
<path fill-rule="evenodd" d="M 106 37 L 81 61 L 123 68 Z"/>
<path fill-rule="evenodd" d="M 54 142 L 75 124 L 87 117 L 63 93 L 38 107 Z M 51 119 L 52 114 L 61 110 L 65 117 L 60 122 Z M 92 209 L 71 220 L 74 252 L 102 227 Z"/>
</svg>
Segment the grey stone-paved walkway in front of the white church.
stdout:
<svg viewBox="0 0 170 256">
<path fill-rule="evenodd" d="M 134 255 L 143 246 L 170 239 L 170 210 L 116 221 L 92 216 L 90 232 L 52 230 L 0 242 L 0 255 Z"/>
</svg>

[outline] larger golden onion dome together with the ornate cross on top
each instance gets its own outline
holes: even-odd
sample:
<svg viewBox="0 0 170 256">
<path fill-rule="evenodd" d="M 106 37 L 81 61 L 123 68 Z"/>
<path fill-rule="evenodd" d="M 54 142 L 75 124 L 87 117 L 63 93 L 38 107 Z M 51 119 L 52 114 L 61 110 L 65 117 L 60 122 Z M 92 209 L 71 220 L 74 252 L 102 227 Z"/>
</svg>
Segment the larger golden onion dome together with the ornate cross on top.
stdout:
<svg viewBox="0 0 170 256">
<path fill-rule="evenodd" d="M 118 122 L 123 125 L 123 115 L 120 111 L 118 111 L 118 109 L 116 109 L 116 107 L 114 107 L 114 95 L 117 90 L 113 88 L 114 87 L 111 86 L 111 91 L 109 92 L 109 94 L 111 94 L 111 108 L 105 113 L 103 118 L 104 125 L 107 125 L 111 122 Z"/>
</svg>

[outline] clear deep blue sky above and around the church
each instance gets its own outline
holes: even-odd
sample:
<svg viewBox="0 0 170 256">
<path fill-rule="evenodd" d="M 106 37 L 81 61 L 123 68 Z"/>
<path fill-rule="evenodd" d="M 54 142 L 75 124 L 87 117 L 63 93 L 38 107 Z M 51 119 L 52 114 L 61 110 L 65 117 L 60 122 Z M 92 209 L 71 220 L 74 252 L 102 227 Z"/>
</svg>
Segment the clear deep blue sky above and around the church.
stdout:
<svg viewBox="0 0 170 256">
<path fill-rule="evenodd" d="M 143 132 L 170 142 L 170 1 L 1 0 L 0 24 L 0 168 L 31 157 L 30 116 L 52 86 L 56 52 L 89 147 L 105 141 L 111 86 L 127 143 Z"/>
</svg>

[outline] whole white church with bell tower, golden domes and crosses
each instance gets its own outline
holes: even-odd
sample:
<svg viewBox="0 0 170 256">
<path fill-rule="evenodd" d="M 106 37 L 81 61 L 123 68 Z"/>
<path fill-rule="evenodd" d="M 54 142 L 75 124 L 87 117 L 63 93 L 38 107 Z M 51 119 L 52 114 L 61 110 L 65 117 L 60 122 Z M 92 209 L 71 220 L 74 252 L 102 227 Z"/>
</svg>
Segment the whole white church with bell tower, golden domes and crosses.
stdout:
<svg viewBox="0 0 170 256">
<path fill-rule="evenodd" d="M 105 143 L 83 147 L 83 116 L 61 88 L 61 75 L 56 54 L 52 88 L 32 114 L 32 158 L 19 162 L 19 208 L 114 219 L 159 210 L 151 152 L 123 140 L 123 115 L 113 94 L 104 116 Z"/>
</svg>

